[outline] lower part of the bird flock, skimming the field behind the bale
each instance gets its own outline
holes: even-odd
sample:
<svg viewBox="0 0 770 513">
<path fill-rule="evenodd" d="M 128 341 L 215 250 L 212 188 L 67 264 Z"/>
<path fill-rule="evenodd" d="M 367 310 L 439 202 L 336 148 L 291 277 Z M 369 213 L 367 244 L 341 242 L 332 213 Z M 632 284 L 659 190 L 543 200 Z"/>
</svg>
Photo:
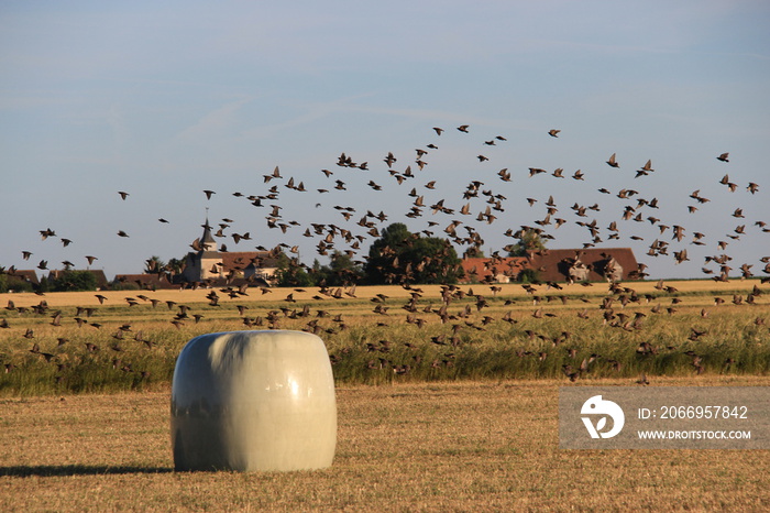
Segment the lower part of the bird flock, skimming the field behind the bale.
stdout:
<svg viewBox="0 0 770 513">
<path fill-rule="evenodd" d="M 375 358 L 371 358 L 365 362 L 365 367 L 370 371 L 392 370 L 396 375 L 409 374 L 413 369 L 420 365 L 429 365 L 430 369 L 436 370 L 452 368 L 454 367 L 457 351 L 468 343 L 468 340 L 473 339 L 473 336 L 464 337 L 463 335 L 468 332 L 486 331 L 487 329 L 494 328 L 495 324 L 513 328 L 519 323 L 522 323 L 525 327 L 517 329 L 517 331 L 519 331 L 518 336 L 530 343 L 515 350 L 515 356 L 519 359 L 534 359 L 539 362 L 544 362 L 549 360 L 549 358 L 559 358 L 561 356 L 561 358 L 566 361 L 566 363 L 562 364 L 562 372 L 570 381 L 574 382 L 582 375 L 591 372 L 596 365 L 602 364 L 606 369 L 618 372 L 623 369 L 624 363 L 618 359 L 604 357 L 595 352 L 586 356 L 586 351 L 582 348 L 581 343 L 582 336 L 576 336 L 576 334 L 568 330 L 561 330 L 554 335 L 553 330 L 549 329 L 548 325 L 542 323 L 548 323 L 550 319 L 559 317 L 560 315 L 572 314 L 569 314 L 569 310 L 562 314 L 557 313 L 558 310 L 554 309 L 546 309 L 546 305 L 552 302 L 559 305 L 573 304 L 574 306 L 575 304 L 580 304 L 580 306 L 575 308 L 576 316 L 584 321 L 595 318 L 595 309 L 597 308 L 601 313 L 601 324 L 607 329 L 639 334 L 644 332 L 646 329 L 646 321 L 650 315 L 667 314 L 668 316 L 673 316 L 676 313 L 678 305 L 683 301 L 678 294 L 679 291 L 672 285 L 667 285 L 663 280 L 660 280 L 654 286 L 660 295 L 638 294 L 637 291 L 630 286 L 610 283 L 608 294 L 601 297 L 597 304 L 590 298 L 571 297 L 568 294 L 563 294 L 561 292 L 563 291 L 563 286 L 559 283 L 544 283 L 542 285 L 546 287 L 544 292 L 552 291 L 554 294 L 540 295 L 542 290 L 538 290 L 536 285 L 522 285 L 529 297 L 519 305 L 527 305 L 531 302 L 531 305 L 536 308 L 531 314 L 527 314 L 521 309 L 508 309 L 503 315 L 496 315 L 496 309 L 491 308 L 493 305 L 490 302 L 488 295 L 474 292 L 473 287 L 463 290 L 463 287 L 459 285 L 442 285 L 438 306 L 433 305 L 432 298 L 429 298 L 426 304 L 424 301 L 424 290 L 415 285 L 403 285 L 403 287 L 408 291 L 408 299 L 402 304 L 395 303 L 392 297 L 383 293 L 378 293 L 370 301 L 375 305 L 372 312 L 381 316 L 381 320 L 373 324 L 383 328 L 384 332 L 388 331 L 388 327 L 391 327 L 394 321 L 398 323 L 398 315 L 395 314 L 396 312 L 402 312 L 402 315 L 405 316 L 404 323 L 406 325 L 413 325 L 418 330 L 424 330 L 427 325 L 435 324 L 448 326 L 448 328 L 441 330 L 439 335 L 417 336 L 409 340 L 381 337 L 376 342 L 365 342 L 360 349 L 375 356 Z M 586 286 L 590 286 L 590 284 L 586 284 Z M 274 292 L 266 287 L 256 290 L 260 291 L 260 294 L 272 294 Z M 276 303 L 284 302 L 286 306 L 268 309 L 264 313 L 264 316 L 260 316 L 250 314 L 249 310 L 252 307 L 244 304 L 249 302 L 248 297 L 250 292 L 253 293 L 254 291 L 255 288 L 250 287 L 249 284 L 242 284 L 238 287 L 209 288 L 205 297 L 210 307 L 237 309 L 242 327 L 245 329 L 301 329 L 319 335 L 327 340 L 329 337 L 345 331 L 349 328 L 349 320 L 345 318 L 345 315 L 341 313 L 334 314 L 331 310 L 318 308 L 318 303 L 315 303 L 316 308 L 312 308 L 311 305 L 314 302 L 358 297 L 355 285 L 350 287 L 320 287 L 318 294 L 312 297 L 312 302 L 305 302 L 301 306 L 297 306 L 298 299 L 295 298 L 295 293 L 306 293 L 307 291 L 304 288 L 295 288 L 287 294 L 285 298 L 276 298 Z M 492 294 L 493 297 L 501 291 L 502 287 L 498 285 L 490 286 L 490 294 Z M 220 295 L 220 293 L 222 295 Z M 737 306 L 755 305 L 762 294 L 763 292 L 760 287 L 754 285 L 752 290 L 746 296 L 734 294 L 732 303 Z M 95 298 L 100 305 L 109 301 L 101 294 L 95 294 Z M 228 305 L 223 299 L 230 299 L 231 303 Z M 130 307 L 146 304 L 152 308 L 167 308 L 169 313 L 174 313 L 169 323 L 177 329 L 182 329 L 188 321 L 198 324 L 201 319 L 207 317 L 206 310 L 201 310 L 197 306 L 191 307 L 175 301 L 161 301 L 145 294 L 127 296 L 124 301 Z M 663 307 L 661 301 L 670 301 L 669 306 Z M 718 306 L 727 301 L 730 299 L 717 296 L 714 298 L 714 305 Z M 516 303 L 516 299 L 507 298 L 504 306 L 507 307 Z M 499 307 L 499 305 L 497 306 Z M 626 309 L 626 307 L 629 308 Z M 48 317 L 51 318 L 48 324 L 55 327 L 55 330 L 59 329 L 62 326 L 66 326 L 68 320 L 64 317 L 62 310 L 52 310 L 45 299 L 30 307 L 16 306 L 12 299 L 9 299 L 4 309 L 8 312 L 15 312 L 21 319 L 30 315 Z M 196 309 L 197 312 L 195 312 Z M 74 324 L 70 323 L 69 326 L 77 327 L 78 330 L 81 328 L 91 328 L 96 331 L 101 331 L 103 324 L 92 319 L 94 317 L 98 317 L 98 306 L 76 307 L 75 316 L 72 319 Z M 594 310 L 594 313 L 592 313 L 592 310 Z M 703 308 L 700 315 L 702 319 L 706 319 L 710 315 L 710 310 Z M 542 320 L 527 323 L 527 318 L 529 317 L 531 317 L 531 319 Z M 63 321 L 65 324 L 63 324 Z M 292 325 L 286 326 L 287 323 L 292 323 Z M 757 316 L 754 319 L 754 325 L 758 330 L 767 330 L 766 320 L 761 316 Z M 536 331 L 532 329 L 538 326 L 542 328 L 542 330 Z M 0 318 L 0 328 L 9 329 L 11 327 L 7 318 Z M 15 323 L 13 327 L 15 327 Z M 689 330 L 690 335 L 686 337 L 686 340 L 692 342 L 697 342 L 703 337 L 710 335 L 707 328 L 697 325 L 692 325 Z M 56 342 L 53 348 L 43 349 L 41 342 L 51 346 L 51 341 L 47 340 L 46 336 L 42 339 L 38 338 L 35 335 L 35 329 L 31 327 L 22 328 L 22 331 L 20 331 L 21 337 L 31 343 L 31 347 L 29 351 L 22 350 L 21 352 L 29 352 L 37 357 L 40 361 L 55 365 L 57 374 L 54 376 L 54 380 L 56 383 L 61 383 L 64 380 L 65 371 L 76 364 L 74 363 L 72 358 L 73 352 L 69 348 L 74 345 L 78 345 L 78 342 L 63 335 L 55 337 Z M 72 332 L 70 330 L 69 336 L 72 336 Z M 432 332 L 436 332 L 436 330 L 432 330 Z M 135 380 L 141 382 L 150 379 L 150 372 L 145 369 L 134 368 L 134 364 L 130 360 L 135 357 L 136 348 L 144 348 L 151 351 L 157 347 L 158 340 L 153 340 L 153 338 L 155 338 L 154 335 L 155 334 L 147 337 L 144 330 L 134 329 L 131 324 L 123 323 L 114 327 L 112 331 L 109 331 L 108 328 L 108 331 L 100 336 L 101 341 L 97 339 L 95 342 L 91 341 L 95 340 L 94 337 L 88 337 L 88 341 L 81 343 L 81 356 L 76 358 L 79 358 L 78 361 L 80 363 L 101 361 L 111 365 L 114 370 L 134 375 Z M 682 343 L 686 345 L 684 341 L 682 341 Z M 430 351 L 420 351 L 420 349 L 425 349 L 425 346 L 436 348 L 437 350 L 433 351 L 433 356 L 426 361 L 424 361 L 424 354 L 430 354 Z M 552 347 L 553 349 L 549 351 L 548 349 L 543 349 L 546 347 Z M 403 351 L 398 351 L 397 348 L 403 349 Z M 679 343 L 659 342 L 656 345 L 649 339 L 645 339 L 636 347 L 636 353 L 642 360 L 654 359 L 659 356 L 684 354 L 691 359 L 693 371 L 701 374 L 705 370 L 704 357 L 692 349 L 685 349 L 686 347 L 681 347 Z M 337 352 L 330 354 L 332 365 L 340 363 L 354 351 L 355 348 L 352 347 L 338 348 Z M 2 361 L 4 365 L 6 373 L 15 371 L 20 363 L 20 359 L 13 354 L 0 354 L 0 361 Z M 579 361 L 580 363 L 578 363 Z M 740 364 L 740 361 L 737 361 L 735 358 L 727 357 L 722 362 L 722 371 L 727 371 L 734 365 Z M 639 380 L 637 380 L 637 383 L 649 384 L 649 379 L 642 373 Z"/>
</svg>

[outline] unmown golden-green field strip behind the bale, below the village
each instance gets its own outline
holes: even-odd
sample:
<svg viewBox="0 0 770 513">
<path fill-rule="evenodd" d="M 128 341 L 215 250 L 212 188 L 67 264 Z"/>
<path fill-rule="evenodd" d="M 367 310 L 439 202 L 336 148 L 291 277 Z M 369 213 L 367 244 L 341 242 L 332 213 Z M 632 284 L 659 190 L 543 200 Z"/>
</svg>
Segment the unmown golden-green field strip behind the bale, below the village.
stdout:
<svg viewBox="0 0 770 513">
<path fill-rule="evenodd" d="M 3 295 L 0 395 L 156 390 L 188 340 L 243 329 L 315 332 L 338 384 L 767 375 L 768 291 L 735 280 L 474 284 L 443 297 L 438 285 Z"/>
</svg>

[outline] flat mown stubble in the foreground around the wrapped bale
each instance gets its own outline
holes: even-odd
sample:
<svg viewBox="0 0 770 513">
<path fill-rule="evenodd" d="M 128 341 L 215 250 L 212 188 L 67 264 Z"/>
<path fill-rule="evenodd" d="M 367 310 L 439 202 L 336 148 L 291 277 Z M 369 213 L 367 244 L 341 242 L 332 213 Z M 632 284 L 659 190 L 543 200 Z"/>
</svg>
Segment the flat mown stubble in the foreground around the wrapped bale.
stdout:
<svg viewBox="0 0 770 513">
<path fill-rule="evenodd" d="M 656 383 L 767 386 L 770 379 Z M 332 467 L 298 472 L 174 472 L 167 391 L 0 400 L 3 510 L 770 509 L 767 450 L 559 449 L 562 384 L 342 386 Z"/>
</svg>

